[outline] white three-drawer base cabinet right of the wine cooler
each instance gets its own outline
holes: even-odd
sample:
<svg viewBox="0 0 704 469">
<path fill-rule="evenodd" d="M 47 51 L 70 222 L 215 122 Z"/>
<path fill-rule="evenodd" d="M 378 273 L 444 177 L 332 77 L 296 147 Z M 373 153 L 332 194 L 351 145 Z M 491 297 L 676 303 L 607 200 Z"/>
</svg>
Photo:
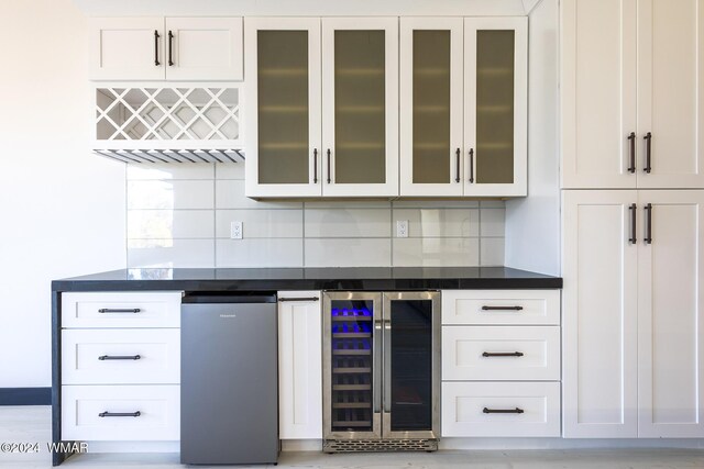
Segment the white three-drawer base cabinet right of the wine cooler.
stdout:
<svg viewBox="0 0 704 469">
<path fill-rule="evenodd" d="M 560 291 L 442 292 L 442 436 L 560 436 Z"/>
</svg>

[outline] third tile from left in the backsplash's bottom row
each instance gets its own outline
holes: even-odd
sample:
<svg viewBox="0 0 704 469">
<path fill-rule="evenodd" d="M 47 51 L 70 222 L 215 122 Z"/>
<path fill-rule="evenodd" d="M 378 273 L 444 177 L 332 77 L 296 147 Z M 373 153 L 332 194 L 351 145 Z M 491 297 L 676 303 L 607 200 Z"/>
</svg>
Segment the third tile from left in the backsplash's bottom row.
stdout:
<svg viewBox="0 0 704 469">
<path fill-rule="evenodd" d="M 391 238 L 306 238 L 306 267 L 387 267 Z"/>
</svg>

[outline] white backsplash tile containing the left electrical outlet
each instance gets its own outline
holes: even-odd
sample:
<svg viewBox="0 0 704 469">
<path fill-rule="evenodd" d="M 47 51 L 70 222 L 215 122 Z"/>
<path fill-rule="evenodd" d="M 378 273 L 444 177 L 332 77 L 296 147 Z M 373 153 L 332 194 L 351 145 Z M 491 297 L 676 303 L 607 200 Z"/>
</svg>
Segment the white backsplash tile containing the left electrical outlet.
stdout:
<svg viewBox="0 0 704 469">
<path fill-rule="evenodd" d="M 230 223 L 242 222 L 242 237 L 304 237 L 302 210 L 218 210 L 216 237 L 230 237 Z"/>
</svg>

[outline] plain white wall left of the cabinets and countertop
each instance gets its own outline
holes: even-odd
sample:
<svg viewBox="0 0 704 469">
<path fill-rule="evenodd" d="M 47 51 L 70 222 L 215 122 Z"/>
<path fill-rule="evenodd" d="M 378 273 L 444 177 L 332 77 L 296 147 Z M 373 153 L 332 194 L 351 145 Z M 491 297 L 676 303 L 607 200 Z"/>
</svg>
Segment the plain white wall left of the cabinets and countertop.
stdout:
<svg viewBox="0 0 704 469">
<path fill-rule="evenodd" d="M 51 384 L 51 280 L 125 265 L 124 167 L 88 152 L 86 19 L 0 1 L 0 387 Z"/>
</svg>

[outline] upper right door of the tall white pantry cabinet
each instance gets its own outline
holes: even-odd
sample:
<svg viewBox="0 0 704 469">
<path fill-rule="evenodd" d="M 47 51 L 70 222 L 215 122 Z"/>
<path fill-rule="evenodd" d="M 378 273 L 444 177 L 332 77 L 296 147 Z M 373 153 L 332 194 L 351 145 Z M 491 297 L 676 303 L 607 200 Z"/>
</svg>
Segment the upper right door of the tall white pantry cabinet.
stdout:
<svg viewBox="0 0 704 469">
<path fill-rule="evenodd" d="M 704 188 L 703 63 L 704 1 L 638 1 L 639 189 Z"/>
</svg>

